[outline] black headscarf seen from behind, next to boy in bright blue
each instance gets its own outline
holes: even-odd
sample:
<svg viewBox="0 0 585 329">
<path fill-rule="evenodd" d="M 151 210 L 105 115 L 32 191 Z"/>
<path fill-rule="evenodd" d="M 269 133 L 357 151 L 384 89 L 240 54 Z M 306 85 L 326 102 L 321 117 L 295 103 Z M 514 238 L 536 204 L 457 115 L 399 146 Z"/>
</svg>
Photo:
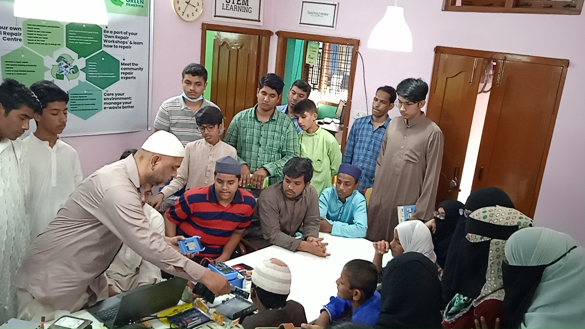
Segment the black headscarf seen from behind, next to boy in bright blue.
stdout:
<svg viewBox="0 0 585 329">
<path fill-rule="evenodd" d="M 445 307 L 438 270 L 419 252 L 404 252 L 384 268 L 380 316 L 374 329 L 442 329 Z"/>
</svg>

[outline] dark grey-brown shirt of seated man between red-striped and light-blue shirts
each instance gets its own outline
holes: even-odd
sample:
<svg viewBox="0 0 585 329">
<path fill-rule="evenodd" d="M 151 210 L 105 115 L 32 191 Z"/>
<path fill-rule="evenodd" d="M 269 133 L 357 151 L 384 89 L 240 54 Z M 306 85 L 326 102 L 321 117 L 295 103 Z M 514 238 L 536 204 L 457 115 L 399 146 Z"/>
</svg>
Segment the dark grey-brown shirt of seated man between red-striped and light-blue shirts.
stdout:
<svg viewBox="0 0 585 329">
<path fill-rule="evenodd" d="M 301 243 L 294 238 L 297 232 L 304 240 L 319 237 L 318 194 L 311 185 L 295 198 L 285 196 L 282 182 L 267 187 L 258 198 L 256 215 L 264 239 L 284 249 L 297 251 Z"/>
</svg>

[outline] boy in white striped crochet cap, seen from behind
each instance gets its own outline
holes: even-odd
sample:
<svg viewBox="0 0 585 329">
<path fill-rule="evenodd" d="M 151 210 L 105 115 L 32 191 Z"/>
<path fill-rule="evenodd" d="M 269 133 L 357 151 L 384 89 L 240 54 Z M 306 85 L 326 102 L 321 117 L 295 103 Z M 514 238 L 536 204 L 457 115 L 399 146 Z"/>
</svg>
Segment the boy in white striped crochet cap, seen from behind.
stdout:
<svg viewBox="0 0 585 329">
<path fill-rule="evenodd" d="M 265 259 L 252 273 L 250 297 L 258 307 L 258 313 L 242 321 L 245 329 L 256 327 L 278 327 L 292 323 L 300 327 L 307 323 L 305 309 L 294 300 L 287 300 L 291 290 L 291 272 L 280 259 Z"/>
</svg>

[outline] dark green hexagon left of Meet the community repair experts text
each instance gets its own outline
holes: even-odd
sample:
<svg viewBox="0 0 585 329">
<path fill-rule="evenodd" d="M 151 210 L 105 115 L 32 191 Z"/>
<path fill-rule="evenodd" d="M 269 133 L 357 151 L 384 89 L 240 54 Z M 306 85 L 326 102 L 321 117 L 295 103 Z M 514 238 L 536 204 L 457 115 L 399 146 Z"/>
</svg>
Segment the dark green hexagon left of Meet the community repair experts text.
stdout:
<svg viewBox="0 0 585 329">
<path fill-rule="evenodd" d="M 105 89 L 120 80 L 120 61 L 102 50 L 86 59 L 81 71 L 85 72 L 85 80 Z"/>
</svg>

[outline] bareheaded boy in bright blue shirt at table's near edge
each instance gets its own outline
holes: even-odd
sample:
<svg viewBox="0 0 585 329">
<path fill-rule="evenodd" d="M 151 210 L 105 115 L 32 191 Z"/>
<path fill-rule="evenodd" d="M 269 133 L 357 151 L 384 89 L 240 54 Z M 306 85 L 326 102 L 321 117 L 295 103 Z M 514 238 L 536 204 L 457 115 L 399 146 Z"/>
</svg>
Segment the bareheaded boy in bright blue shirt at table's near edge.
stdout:
<svg viewBox="0 0 585 329">
<path fill-rule="evenodd" d="M 351 316 L 352 322 L 374 325 L 380 315 L 380 293 L 376 291 L 378 270 L 372 262 L 353 259 L 343 266 L 337 281 L 337 296 L 321 310 L 315 324 L 302 324 L 302 328 L 319 329 L 331 321 Z"/>
</svg>

